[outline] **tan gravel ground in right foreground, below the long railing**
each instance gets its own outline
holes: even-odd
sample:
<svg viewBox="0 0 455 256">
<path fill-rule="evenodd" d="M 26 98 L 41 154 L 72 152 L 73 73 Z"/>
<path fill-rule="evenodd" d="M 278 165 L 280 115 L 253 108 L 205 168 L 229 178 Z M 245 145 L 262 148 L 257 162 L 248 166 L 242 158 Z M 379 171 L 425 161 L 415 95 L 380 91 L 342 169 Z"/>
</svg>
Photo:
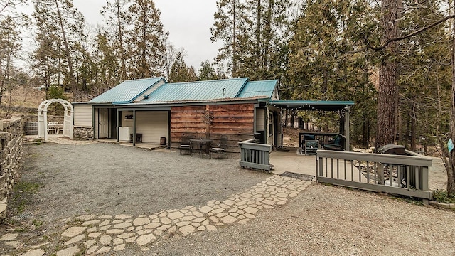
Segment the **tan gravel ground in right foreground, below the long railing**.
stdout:
<svg viewBox="0 0 455 256">
<path fill-rule="evenodd" d="M 314 184 L 216 233 L 159 240 L 141 255 L 454 255 L 455 213 Z"/>
</svg>

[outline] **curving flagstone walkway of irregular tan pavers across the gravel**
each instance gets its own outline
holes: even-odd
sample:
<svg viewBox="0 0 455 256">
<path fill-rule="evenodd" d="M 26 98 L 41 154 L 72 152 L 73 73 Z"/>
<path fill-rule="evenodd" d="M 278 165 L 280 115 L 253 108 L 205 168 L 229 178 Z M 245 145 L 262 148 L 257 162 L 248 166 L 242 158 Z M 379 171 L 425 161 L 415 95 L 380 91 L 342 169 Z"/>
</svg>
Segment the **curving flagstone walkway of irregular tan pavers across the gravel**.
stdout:
<svg viewBox="0 0 455 256">
<path fill-rule="evenodd" d="M 215 231 L 225 225 L 244 224 L 256 218 L 262 209 L 284 205 L 311 184 L 294 178 L 274 175 L 253 186 L 250 191 L 235 193 L 225 201 L 209 201 L 205 206 L 186 206 L 163 210 L 151 215 L 83 215 L 77 223 L 60 234 L 65 241 L 58 252 L 44 252 L 40 245 L 29 247 L 26 256 L 45 253 L 57 256 L 86 255 L 124 250 L 127 244 L 145 247 L 161 235 L 189 235 L 198 231 Z M 6 234 L 1 240 L 14 243 L 16 234 Z M 0 241 L 1 241 L 0 240 Z"/>
</svg>

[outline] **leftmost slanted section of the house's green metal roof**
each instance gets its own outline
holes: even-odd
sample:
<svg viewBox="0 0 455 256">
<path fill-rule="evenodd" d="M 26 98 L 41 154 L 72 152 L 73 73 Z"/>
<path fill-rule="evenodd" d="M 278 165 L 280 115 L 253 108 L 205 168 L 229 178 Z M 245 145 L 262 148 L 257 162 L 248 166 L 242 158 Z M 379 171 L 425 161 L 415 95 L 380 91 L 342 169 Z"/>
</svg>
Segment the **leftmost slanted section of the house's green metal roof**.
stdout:
<svg viewBox="0 0 455 256">
<path fill-rule="evenodd" d="M 164 78 L 127 80 L 90 100 L 89 103 L 131 103 Z"/>
</svg>

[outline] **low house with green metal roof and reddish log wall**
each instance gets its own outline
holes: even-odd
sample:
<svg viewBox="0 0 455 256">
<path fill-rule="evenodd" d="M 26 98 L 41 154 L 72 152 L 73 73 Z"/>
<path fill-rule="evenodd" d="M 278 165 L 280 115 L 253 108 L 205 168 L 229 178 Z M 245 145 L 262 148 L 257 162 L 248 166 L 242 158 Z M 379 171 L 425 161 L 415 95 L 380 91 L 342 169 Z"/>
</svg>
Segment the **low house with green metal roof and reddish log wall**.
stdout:
<svg viewBox="0 0 455 256">
<path fill-rule="evenodd" d="M 237 152 L 237 142 L 256 133 L 263 143 L 279 146 L 282 108 L 311 103 L 280 100 L 278 80 L 127 80 L 89 102 L 73 104 L 74 137 L 166 144 L 172 149 L 188 134 L 215 143 L 225 135 L 228 151 Z M 336 106 L 348 110 L 352 104 Z"/>
</svg>

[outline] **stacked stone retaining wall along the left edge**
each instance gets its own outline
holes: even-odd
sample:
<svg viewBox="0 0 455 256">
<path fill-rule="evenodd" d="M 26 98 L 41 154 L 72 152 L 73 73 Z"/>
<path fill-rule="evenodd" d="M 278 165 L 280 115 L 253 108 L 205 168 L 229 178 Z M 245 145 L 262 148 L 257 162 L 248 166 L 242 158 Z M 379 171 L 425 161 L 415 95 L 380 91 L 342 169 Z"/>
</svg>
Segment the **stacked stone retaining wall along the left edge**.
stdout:
<svg viewBox="0 0 455 256">
<path fill-rule="evenodd" d="M 0 121 L 0 222 L 6 218 L 8 196 L 19 175 L 22 134 L 21 117 Z"/>
</svg>

